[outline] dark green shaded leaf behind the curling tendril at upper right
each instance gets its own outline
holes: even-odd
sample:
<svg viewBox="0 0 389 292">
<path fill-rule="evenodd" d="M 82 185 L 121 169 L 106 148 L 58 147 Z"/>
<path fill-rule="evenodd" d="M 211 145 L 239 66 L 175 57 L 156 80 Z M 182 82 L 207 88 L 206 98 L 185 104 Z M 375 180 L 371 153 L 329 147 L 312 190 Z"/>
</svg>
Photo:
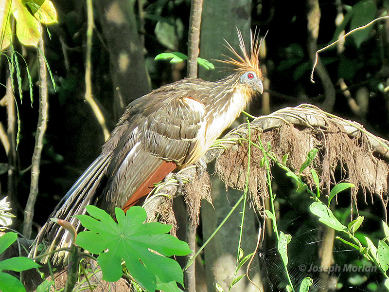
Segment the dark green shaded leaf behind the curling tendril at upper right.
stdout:
<svg viewBox="0 0 389 292">
<path fill-rule="evenodd" d="M 350 22 L 350 30 L 368 24 L 375 18 L 377 6 L 375 1 L 359 1 L 353 6 L 353 16 Z M 365 41 L 373 29 L 373 26 L 368 26 L 364 29 L 355 31 L 351 34 L 354 38 L 355 45 L 359 48 L 363 41 Z"/>
</svg>

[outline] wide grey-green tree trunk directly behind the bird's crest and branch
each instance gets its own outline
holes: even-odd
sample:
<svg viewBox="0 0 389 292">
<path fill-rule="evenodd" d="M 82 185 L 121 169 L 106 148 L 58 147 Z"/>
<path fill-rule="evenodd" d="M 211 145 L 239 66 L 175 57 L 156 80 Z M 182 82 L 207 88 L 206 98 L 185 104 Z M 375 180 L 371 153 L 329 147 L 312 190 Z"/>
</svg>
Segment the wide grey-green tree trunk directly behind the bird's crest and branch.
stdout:
<svg viewBox="0 0 389 292">
<path fill-rule="evenodd" d="M 236 27 L 242 31 L 246 43 L 249 43 L 249 29 L 251 23 L 251 0 L 213 0 L 204 1 L 203 17 L 200 34 L 200 57 L 207 60 L 221 59 L 222 54 L 228 55 L 228 50 L 222 45 L 223 38 L 228 40 L 234 47 L 238 47 Z M 231 19 L 234 19 L 232 22 Z M 213 61 L 212 61 L 213 62 Z M 199 76 L 207 80 L 216 80 L 224 77 L 226 72 L 219 72 L 221 63 L 213 62 L 215 70 L 207 71 L 199 69 Z M 212 171 L 211 171 L 212 173 Z M 217 225 L 224 219 L 231 207 L 242 195 L 239 191 L 229 191 L 228 197 L 225 186 L 218 177 L 212 179 L 212 200 L 214 209 L 208 202 L 202 204 L 202 221 L 204 240 L 215 230 Z M 241 203 L 243 206 L 243 203 Z M 238 210 L 242 210 L 242 206 Z M 246 212 L 242 248 L 245 255 L 252 253 L 256 246 L 257 229 L 252 210 Z M 205 248 L 205 269 L 207 274 L 208 291 L 215 291 L 215 283 L 218 283 L 224 291 L 228 291 L 233 280 L 238 249 L 239 226 L 241 214 L 235 211 L 227 220 L 223 228 L 218 232 Z M 255 259 L 251 266 L 258 267 Z M 244 266 L 246 271 L 246 266 Z M 259 285 L 260 279 L 257 274 L 250 275 L 251 279 Z M 244 272 L 239 272 L 238 275 Z M 257 291 L 247 278 L 242 279 L 233 286 L 231 291 Z"/>
</svg>

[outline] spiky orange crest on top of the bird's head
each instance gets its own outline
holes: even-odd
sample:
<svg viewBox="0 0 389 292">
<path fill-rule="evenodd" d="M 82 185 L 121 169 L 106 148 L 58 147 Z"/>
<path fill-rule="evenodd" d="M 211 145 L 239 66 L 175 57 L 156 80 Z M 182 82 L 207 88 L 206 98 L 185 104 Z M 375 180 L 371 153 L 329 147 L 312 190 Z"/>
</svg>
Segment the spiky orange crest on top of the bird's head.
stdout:
<svg viewBox="0 0 389 292">
<path fill-rule="evenodd" d="M 257 73 L 259 78 L 262 78 L 261 69 L 259 68 L 259 53 L 261 49 L 261 40 L 259 34 L 257 34 L 256 30 L 254 33 L 252 30 L 250 30 L 250 52 L 248 53 L 242 32 L 238 28 L 236 28 L 236 30 L 238 31 L 239 48 L 242 52 L 242 55 L 239 55 L 238 52 L 236 52 L 231 44 L 225 39 L 227 43 L 225 46 L 230 50 L 230 52 L 232 52 L 235 58 L 223 55 L 227 59 L 217 61 L 233 66 L 233 71 L 254 71 Z"/>
</svg>

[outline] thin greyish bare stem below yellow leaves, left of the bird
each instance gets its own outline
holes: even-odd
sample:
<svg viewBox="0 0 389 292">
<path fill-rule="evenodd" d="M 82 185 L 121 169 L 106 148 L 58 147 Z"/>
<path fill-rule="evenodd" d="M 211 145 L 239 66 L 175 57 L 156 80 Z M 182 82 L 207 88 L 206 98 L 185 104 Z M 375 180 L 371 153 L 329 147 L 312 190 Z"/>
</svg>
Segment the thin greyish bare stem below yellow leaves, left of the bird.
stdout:
<svg viewBox="0 0 389 292">
<path fill-rule="evenodd" d="M 37 54 L 39 60 L 39 117 L 35 134 L 34 153 L 31 161 L 30 194 L 28 196 L 26 208 L 24 210 L 23 236 L 26 238 L 30 238 L 31 236 L 31 226 L 34 217 L 34 206 L 36 197 L 38 195 L 40 156 L 43 148 L 43 137 L 47 128 L 47 111 L 49 108 L 47 98 L 47 69 L 44 56 L 44 42 L 42 37 L 39 40 L 38 46 L 39 50 L 37 50 Z"/>
</svg>

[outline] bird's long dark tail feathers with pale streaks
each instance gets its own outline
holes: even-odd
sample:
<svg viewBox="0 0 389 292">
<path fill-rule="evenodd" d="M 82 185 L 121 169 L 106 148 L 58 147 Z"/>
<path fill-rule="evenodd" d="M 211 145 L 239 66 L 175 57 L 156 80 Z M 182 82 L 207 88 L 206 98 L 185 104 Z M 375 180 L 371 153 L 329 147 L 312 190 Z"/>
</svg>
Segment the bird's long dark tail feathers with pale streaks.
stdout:
<svg viewBox="0 0 389 292">
<path fill-rule="evenodd" d="M 74 217 L 74 215 L 85 214 L 85 206 L 89 205 L 96 196 L 96 189 L 99 187 L 100 182 L 106 175 L 106 168 L 109 163 L 109 157 L 107 155 L 100 155 L 83 173 L 83 175 L 77 180 L 71 187 L 65 197 L 59 202 L 50 218 L 60 218 L 70 222 L 76 229 L 80 231 L 80 221 Z M 42 241 L 49 242 L 49 247 L 44 251 L 51 252 L 54 249 L 68 247 L 70 245 L 71 235 L 70 233 L 54 223 L 48 221 L 40 229 L 36 239 L 35 246 L 30 251 L 30 256 L 35 257 L 38 253 L 38 246 Z M 60 251 L 54 253 L 52 257 L 53 263 L 63 262 L 67 257 L 67 253 Z M 47 262 L 48 257 L 40 259 L 41 262 Z"/>
</svg>

